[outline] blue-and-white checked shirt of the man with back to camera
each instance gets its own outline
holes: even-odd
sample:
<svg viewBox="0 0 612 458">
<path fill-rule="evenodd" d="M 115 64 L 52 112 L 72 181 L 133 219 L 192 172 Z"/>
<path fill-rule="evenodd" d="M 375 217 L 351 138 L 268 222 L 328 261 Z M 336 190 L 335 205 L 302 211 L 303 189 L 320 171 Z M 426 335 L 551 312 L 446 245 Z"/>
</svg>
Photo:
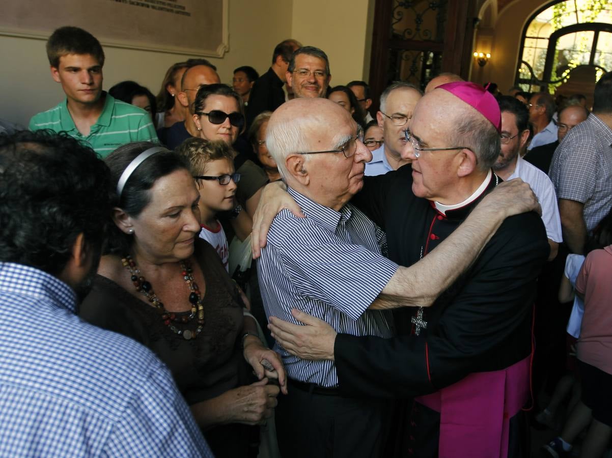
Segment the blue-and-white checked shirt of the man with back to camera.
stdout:
<svg viewBox="0 0 612 458">
<path fill-rule="evenodd" d="M 212 457 L 163 363 L 54 276 L 0 262 L 0 349 L 0 457 Z"/>
</svg>

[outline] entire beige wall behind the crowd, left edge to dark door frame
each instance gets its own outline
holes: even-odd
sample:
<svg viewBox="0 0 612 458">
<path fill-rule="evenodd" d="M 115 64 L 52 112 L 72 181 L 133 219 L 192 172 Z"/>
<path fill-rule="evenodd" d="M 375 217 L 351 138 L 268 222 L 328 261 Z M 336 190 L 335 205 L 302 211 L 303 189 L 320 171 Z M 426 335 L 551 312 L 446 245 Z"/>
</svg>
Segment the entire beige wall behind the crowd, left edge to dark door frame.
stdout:
<svg viewBox="0 0 612 458">
<path fill-rule="evenodd" d="M 274 46 L 295 38 L 329 56 L 332 84 L 364 79 L 370 64 L 374 0 L 230 0 L 230 50 L 217 65 L 224 83 L 233 69 L 251 65 L 267 71 Z M 78 25 L 78 24 L 74 24 Z M 163 75 L 181 54 L 105 46 L 104 87 L 133 79 L 157 94 Z M 193 56 L 196 57 L 196 56 Z M 26 125 L 35 113 L 51 108 L 64 94 L 49 73 L 44 40 L 0 35 L 0 118 Z"/>
</svg>

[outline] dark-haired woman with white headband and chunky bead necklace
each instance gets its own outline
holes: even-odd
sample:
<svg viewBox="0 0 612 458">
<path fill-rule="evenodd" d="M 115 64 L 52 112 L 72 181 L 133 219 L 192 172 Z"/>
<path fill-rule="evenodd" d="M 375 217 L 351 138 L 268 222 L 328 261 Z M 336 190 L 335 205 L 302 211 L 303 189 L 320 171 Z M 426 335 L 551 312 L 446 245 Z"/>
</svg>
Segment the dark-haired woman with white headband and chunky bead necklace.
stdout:
<svg viewBox="0 0 612 458">
<path fill-rule="evenodd" d="M 285 371 L 243 315 L 214 248 L 198 237 L 200 194 L 188 164 L 148 142 L 119 147 L 106 163 L 113 224 L 81 317 L 157 353 L 215 456 L 246 457 L 248 425 L 277 404 L 269 378 L 286 391 Z"/>
</svg>

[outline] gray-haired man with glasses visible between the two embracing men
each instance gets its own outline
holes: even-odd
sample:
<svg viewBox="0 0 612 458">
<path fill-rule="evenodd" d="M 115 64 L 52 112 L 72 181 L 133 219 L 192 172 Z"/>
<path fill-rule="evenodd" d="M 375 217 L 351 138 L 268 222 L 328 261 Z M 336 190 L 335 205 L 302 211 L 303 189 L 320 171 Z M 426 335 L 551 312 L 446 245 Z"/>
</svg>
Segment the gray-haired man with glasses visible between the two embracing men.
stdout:
<svg viewBox="0 0 612 458">
<path fill-rule="evenodd" d="M 401 157 L 406 145 L 404 131 L 421 97 L 419 89 L 401 81 L 395 81 L 383 91 L 376 120 L 383 129 L 384 143 L 373 150 L 372 160 L 365 165 L 366 175 L 386 174 L 410 162 Z"/>
</svg>

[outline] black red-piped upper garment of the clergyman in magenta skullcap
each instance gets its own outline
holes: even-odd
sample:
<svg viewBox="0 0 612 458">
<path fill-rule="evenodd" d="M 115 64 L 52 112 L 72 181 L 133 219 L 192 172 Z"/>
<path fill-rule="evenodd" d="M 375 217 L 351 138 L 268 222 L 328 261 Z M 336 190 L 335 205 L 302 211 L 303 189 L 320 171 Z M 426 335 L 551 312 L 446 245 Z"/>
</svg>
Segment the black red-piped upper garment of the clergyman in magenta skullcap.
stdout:
<svg viewBox="0 0 612 458">
<path fill-rule="evenodd" d="M 386 231 L 389 258 L 409 266 L 453 232 L 496 181 L 501 180 L 493 174 L 480 198 L 444 216 L 412 194 L 407 165 L 366 177 L 364 190 L 351 202 Z M 549 249 L 537 213 L 507 218 L 469 270 L 424 309 L 427 328 L 419 336 L 411 325 L 416 308 L 398 309 L 395 338 L 338 334 L 340 389 L 349 396 L 417 396 L 528 356 L 535 281 Z"/>
</svg>

